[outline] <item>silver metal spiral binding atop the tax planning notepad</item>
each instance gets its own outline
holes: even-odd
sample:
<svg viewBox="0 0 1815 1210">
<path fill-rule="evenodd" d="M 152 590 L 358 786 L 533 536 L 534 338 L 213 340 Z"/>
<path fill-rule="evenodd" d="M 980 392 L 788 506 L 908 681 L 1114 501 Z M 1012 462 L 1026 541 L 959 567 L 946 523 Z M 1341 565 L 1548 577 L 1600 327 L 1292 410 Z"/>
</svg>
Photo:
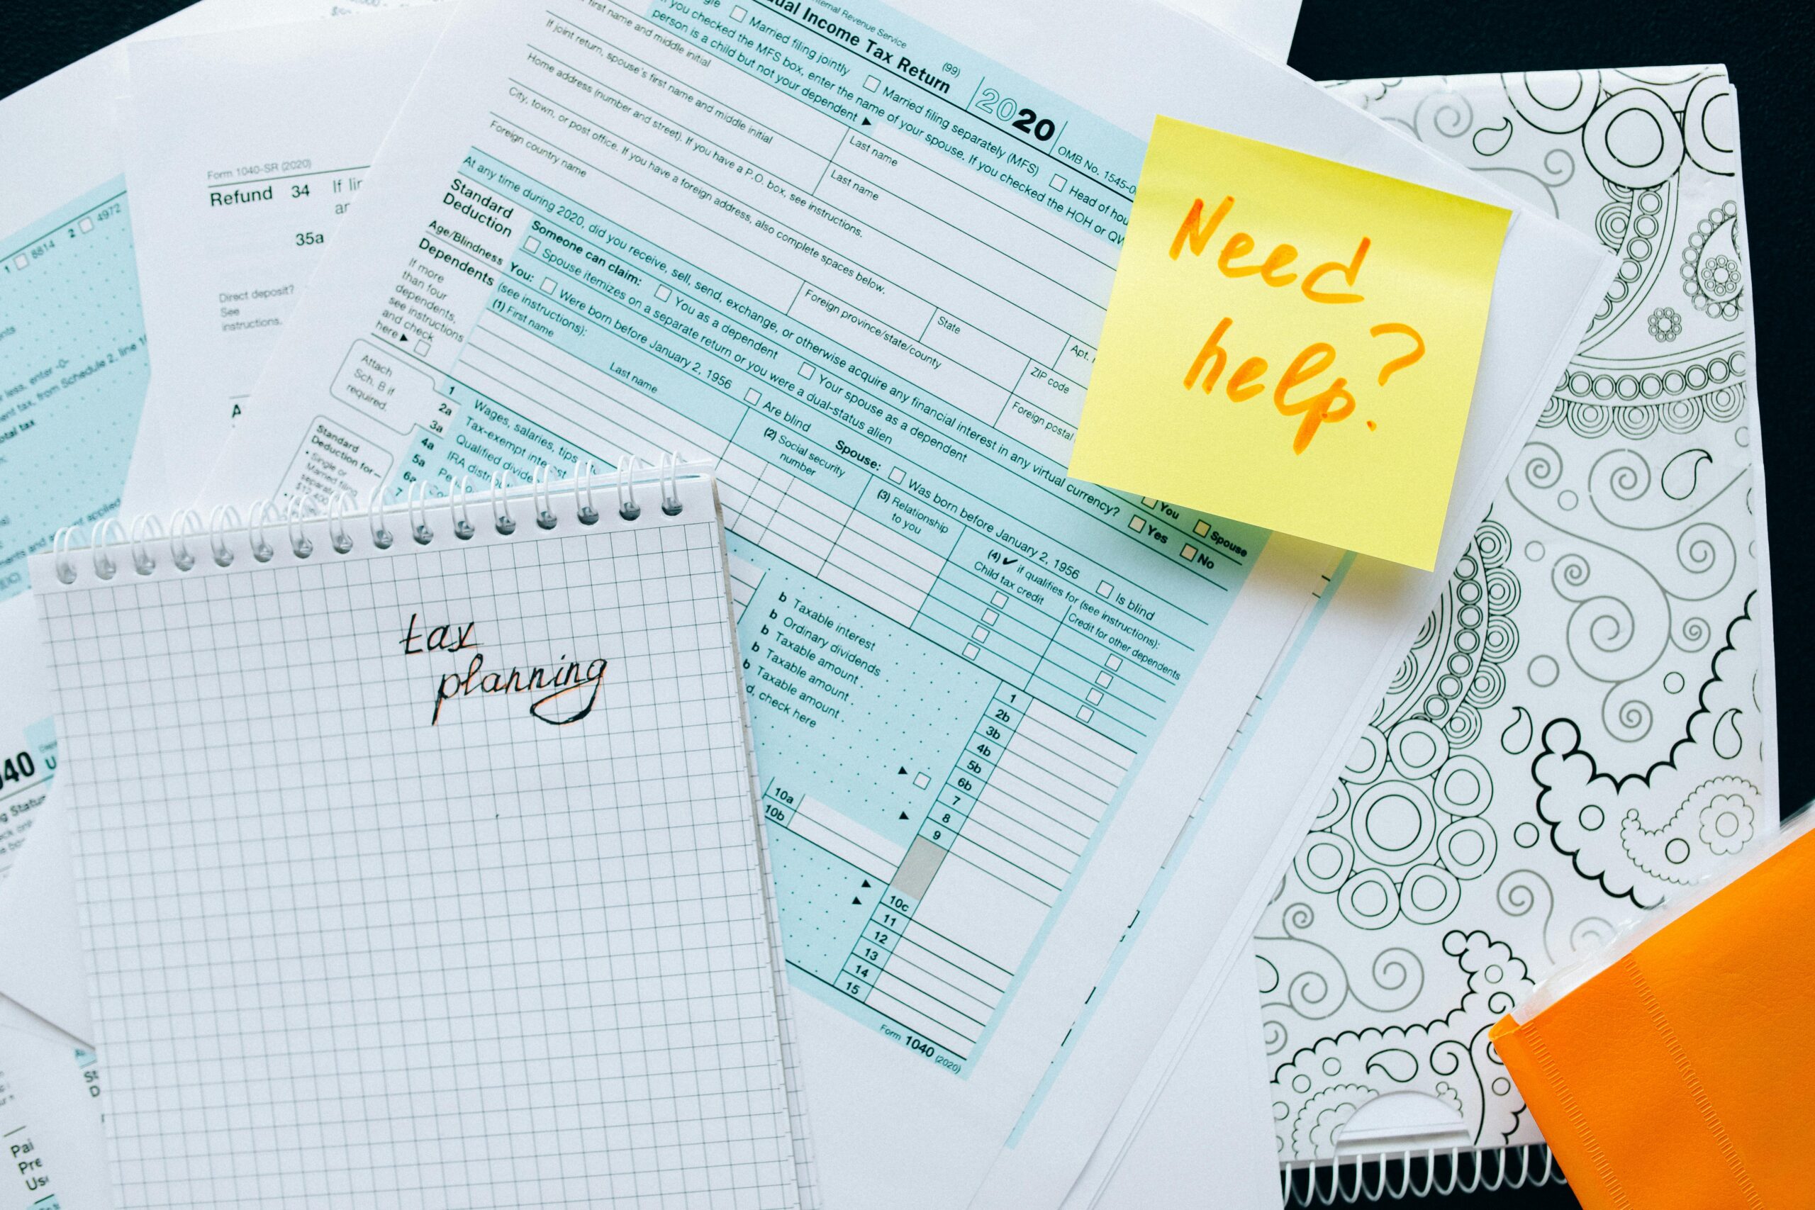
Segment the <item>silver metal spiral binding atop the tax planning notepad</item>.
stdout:
<svg viewBox="0 0 1815 1210">
<path fill-rule="evenodd" d="M 443 495 L 430 495 L 428 484 L 419 483 L 410 486 L 401 501 L 385 503 L 379 501 L 383 488 L 376 488 L 365 508 L 359 508 L 359 501 L 352 492 L 341 492 L 329 503 L 325 515 L 316 510 L 312 501 L 292 497 L 283 506 L 269 499 L 256 501 L 243 519 L 232 504 L 216 506 L 207 521 L 196 510 L 185 508 L 171 517 L 169 528 L 156 517 L 143 515 L 132 521 L 129 532 L 118 517 L 107 517 L 89 526 L 87 542 L 83 544 L 76 542 L 80 526 L 64 526 L 56 532 L 51 551 L 56 557 L 56 579 L 64 584 L 74 584 L 80 575 L 76 551 L 87 553 L 96 579 L 102 581 L 114 579 L 123 568 L 131 568 L 138 575 L 154 573 L 160 562 L 160 548 L 163 546 L 169 548 L 171 566 L 178 571 L 194 570 L 198 555 L 212 559 L 220 568 L 227 568 L 232 566 L 236 557 L 229 537 L 241 533 L 252 559 L 258 562 L 270 562 L 276 557 L 278 548 L 270 539 L 278 532 L 283 533 L 280 541 L 290 548 L 294 557 L 312 557 L 316 553 L 316 541 L 309 535 L 310 526 L 318 526 L 318 535 L 325 528 L 327 546 L 332 553 L 352 553 L 356 542 L 354 532 L 348 526 L 359 521 L 367 524 L 372 546 L 376 550 L 388 550 L 397 537 L 390 528 L 397 513 L 403 519 L 403 533 L 414 539 L 417 546 L 428 546 L 436 541 L 434 521 L 439 515 L 446 517 L 448 532 L 457 541 L 466 541 L 477 533 L 472 513 L 476 508 L 490 504 L 492 528 L 508 537 L 517 530 L 517 519 L 512 513 L 514 503 L 528 503 L 535 517 L 535 526 L 554 530 L 561 524 L 561 517 L 554 510 L 554 501 L 566 492 L 574 493 L 574 519 L 583 526 L 597 524 L 599 508 L 595 504 L 595 492 L 612 483 L 617 486 L 617 515 L 624 521 L 635 521 L 643 515 L 643 504 L 637 501 L 637 484 L 652 481 L 661 493 L 662 513 L 668 517 L 679 515 L 682 508 L 681 455 L 664 454 L 657 464 L 646 466 L 653 473 L 644 475 L 637 473 L 639 463 L 641 459 L 635 455 L 626 457 L 617 470 L 604 475 L 597 473 L 592 463 L 586 463 L 581 473 L 559 479 L 554 477 L 550 468 L 543 468 L 528 481 L 526 490 L 525 486 L 512 488 L 506 483 L 508 475 L 499 477 L 497 472 L 492 473 L 490 488 L 477 492 L 470 479 L 461 477 Z M 125 553 L 123 562 L 118 559 L 122 553 Z"/>
</svg>

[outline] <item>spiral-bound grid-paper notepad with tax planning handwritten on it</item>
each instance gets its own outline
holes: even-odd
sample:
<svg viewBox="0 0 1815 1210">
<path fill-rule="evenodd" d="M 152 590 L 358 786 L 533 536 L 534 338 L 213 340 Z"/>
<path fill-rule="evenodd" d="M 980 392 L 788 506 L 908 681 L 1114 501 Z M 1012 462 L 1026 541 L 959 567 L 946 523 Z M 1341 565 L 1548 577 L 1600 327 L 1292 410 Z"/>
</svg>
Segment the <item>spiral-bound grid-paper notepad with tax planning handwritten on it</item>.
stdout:
<svg viewBox="0 0 1815 1210">
<path fill-rule="evenodd" d="M 176 528 L 33 564 L 118 1205 L 800 1205 L 711 479 Z"/>
</svg>

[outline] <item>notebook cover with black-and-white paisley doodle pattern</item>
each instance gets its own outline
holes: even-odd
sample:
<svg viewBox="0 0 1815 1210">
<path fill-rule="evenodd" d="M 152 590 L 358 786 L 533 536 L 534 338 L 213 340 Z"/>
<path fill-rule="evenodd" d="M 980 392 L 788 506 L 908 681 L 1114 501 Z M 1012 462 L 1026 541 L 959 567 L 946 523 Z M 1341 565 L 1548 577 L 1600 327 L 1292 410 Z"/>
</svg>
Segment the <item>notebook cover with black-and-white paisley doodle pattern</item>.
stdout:
<svg viewBox="0 0 1815 1210">
<path fill-rule="evenodd" d="M 1494 1021 L 1777 827 L 1726 69 L 1330 87 L 1621 268 L 1258 929 L 1289 1165 L 1539 1143 Z"/>
</svg>

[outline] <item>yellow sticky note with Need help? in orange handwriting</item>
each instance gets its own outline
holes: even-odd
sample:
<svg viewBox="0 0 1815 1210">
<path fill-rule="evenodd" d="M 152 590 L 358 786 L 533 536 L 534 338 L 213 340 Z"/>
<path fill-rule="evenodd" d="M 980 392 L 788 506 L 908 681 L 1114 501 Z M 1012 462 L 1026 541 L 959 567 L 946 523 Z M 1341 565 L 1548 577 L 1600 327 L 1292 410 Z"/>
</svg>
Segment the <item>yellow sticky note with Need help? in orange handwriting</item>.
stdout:
<svg viewBox="0 0 1815 1210">
<path fill-rule="evenodd" d="M 1510 218 L 1158 118 L 1071 475 L 1434 568 Z"/>
</svg>

